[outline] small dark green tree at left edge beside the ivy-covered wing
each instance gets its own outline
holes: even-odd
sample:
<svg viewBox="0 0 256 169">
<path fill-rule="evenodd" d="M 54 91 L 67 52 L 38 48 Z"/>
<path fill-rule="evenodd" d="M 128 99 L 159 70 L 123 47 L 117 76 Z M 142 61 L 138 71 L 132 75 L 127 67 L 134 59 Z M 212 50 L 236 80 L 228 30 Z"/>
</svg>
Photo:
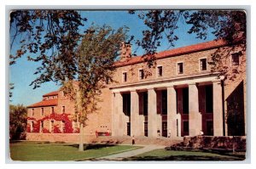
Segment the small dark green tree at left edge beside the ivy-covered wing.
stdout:
<svg viewBox="0 0 256 169">
<path fill-rule="evenodd" d="M 9 105 L 9 138 L 20 139 L 20 133 L 26 132 L 26 107 L 22 104 Z"/>
</svg>

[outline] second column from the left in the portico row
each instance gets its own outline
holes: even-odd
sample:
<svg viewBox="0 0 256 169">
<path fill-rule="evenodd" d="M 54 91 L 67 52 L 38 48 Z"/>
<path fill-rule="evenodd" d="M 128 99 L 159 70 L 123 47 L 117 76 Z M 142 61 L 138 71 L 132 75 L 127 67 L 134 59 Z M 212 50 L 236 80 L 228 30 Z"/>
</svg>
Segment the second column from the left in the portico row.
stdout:
<svg viewBox="0 0 256 169">
<path fill-rule="evenodd" d="M 139 136 L 140 124 L 139 124 L 139 96 L 136 91 L 131 91 L 131 136 Z"/>
</svg>

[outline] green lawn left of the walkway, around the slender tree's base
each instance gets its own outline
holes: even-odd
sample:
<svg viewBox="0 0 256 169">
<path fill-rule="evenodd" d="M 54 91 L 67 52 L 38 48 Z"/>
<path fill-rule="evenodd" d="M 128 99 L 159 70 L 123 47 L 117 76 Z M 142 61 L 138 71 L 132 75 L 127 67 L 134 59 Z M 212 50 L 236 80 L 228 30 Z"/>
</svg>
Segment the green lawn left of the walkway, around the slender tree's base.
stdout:
<svg viewBox="0 0 256 169">
<path fill-rule="evenodd" d="M 79 152 L 78 147 L 78 144 L 47 142 L 10 143 L 10 157 L 13 161 L 85 161 L 141 148 L 131 145 L 87 144 L 84 145 L 84 152 Z"/>
</svg>

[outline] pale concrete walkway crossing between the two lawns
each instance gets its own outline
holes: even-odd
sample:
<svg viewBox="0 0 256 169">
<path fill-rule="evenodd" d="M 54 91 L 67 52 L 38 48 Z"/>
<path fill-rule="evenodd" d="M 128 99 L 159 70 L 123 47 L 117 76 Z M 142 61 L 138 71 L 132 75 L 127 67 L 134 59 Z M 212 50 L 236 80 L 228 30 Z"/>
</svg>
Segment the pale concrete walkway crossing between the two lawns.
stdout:
<svg viewBox="0 0 256 169">
<path fill-rule="evenodd" d="M 136 146 L 143 146 L 143 148 L 126 151 L 126 152 L 115 154 L 115 155 L 100 157 L 100 158 L 97 158 L 96 160 L 97 161 L 121 161 L 122 159 L 127 157 L 141 155 L 143 153 L 152 151 L 154 149 L 164 149 L 166 147 L 161 145 L 140 145 L 140 144 L 136 144 Z"/>
</svg>

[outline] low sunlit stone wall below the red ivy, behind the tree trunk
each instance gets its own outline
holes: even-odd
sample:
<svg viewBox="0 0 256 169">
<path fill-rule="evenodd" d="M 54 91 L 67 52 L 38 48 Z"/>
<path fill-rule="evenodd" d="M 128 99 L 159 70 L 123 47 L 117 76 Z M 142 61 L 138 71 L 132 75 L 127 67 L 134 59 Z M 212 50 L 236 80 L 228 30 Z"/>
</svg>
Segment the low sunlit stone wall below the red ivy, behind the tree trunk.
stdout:
<svg viewBox="0 0 256 169">
<path fill-rule="evenodd" d="M 26 133 L 26 140 L 79 143 L 79 133 Z M 84 135 L 84 143 L 90 143 L 96 136 Z"/>
</svg>

